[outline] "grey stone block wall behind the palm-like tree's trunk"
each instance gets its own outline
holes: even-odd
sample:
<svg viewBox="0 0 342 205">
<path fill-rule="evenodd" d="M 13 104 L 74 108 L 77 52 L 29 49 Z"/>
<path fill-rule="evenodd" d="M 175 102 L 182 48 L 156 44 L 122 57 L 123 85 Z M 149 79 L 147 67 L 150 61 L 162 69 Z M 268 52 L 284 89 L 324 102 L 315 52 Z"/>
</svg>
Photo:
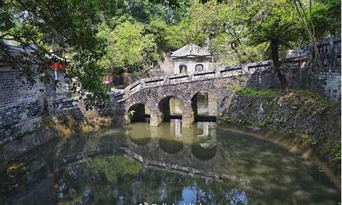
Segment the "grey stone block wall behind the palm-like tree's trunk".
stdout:
<svg viewBox="0 0 342 205">
<path fill-rule="evenodd" d="M 290 50 L 282 59 L 289 87 L 310 88 L 330 100 L 341 101 L 341 37 L 317 42 L 319 63 L 315 60 L 311 44 Z M 272 61 L 223 67 L 225 70 L 246 70 L 237 74 L 239 84 L 247 87 L 280 88 Z M 222 68 L 219 68 L 222 69 Z"/>
</svg>

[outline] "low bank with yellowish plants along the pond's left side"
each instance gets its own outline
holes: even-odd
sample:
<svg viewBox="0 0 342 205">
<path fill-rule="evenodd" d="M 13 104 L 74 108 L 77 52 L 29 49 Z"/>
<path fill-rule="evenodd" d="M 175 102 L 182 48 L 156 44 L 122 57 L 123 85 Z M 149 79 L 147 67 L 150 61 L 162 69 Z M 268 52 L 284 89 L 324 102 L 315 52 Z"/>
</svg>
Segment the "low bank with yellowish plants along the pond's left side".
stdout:
<svg viewBox="0 0 342 205">
<path fill-rule="evenodd" d="M 20 133 L 14 141 L 0 145 L 0 174 L 7 169 L 8 161 L 41 146 L 56 137 L 70 137 L 77 133 L 89 133 L 101 128 L 114 126 L 114 119 L 99 116 L 95 112 L 88 112 L 77 118 L 77 113 L 64 113 L 64 115 L 51 115 L 44 113 L 38 128 L 27 133 Z"/>
</svg>

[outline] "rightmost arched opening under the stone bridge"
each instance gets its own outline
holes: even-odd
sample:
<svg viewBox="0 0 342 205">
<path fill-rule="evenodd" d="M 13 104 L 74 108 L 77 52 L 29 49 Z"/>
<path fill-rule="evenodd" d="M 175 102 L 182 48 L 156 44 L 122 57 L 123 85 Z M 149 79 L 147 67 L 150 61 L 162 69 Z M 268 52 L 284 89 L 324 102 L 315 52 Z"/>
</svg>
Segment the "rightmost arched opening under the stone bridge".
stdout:
<svg viewBox="0 0 342 205">
<path fill-rule="evenodd" d="M 198 92 L 192 97 L 195 122 L 215 122 L 217 115 L 216 96 L 210 92 Z"/>
</svg>

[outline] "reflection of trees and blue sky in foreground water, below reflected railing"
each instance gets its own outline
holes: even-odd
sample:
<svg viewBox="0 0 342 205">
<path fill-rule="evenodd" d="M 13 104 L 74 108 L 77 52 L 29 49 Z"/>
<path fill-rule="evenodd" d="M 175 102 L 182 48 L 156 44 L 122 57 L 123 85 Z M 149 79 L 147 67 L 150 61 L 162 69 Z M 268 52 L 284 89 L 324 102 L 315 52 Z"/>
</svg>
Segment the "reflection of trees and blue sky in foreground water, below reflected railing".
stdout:
<svg viewBox="0 0 342 205">
<path fill-rule="evenodd" d="M 86 184 L 84 184 L 86 182 Z M 84 184 L 84 187 L 79 186 Z M 244 191 L 229 184 L 144 168 L 123 157 L 108 156 L 70 167 L 57 183 L 59 204 L 246 204 Z M 220 190 L 220 191 L 219 191 Z M 80 203 L 83 202 L 83 203 Z"/>
</svg>

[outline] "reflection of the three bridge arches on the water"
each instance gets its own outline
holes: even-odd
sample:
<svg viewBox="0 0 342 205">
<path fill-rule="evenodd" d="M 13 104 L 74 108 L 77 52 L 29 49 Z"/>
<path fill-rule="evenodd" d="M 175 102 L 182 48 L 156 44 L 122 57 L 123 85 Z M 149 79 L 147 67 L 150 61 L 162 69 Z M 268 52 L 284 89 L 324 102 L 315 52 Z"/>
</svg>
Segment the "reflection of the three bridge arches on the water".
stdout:
<svg viewBox="0 0 342 205">
<path fill-rule="evenodd" d="M 148 146 L 150 143 L 148 147 L 160 148 L 160 152 L 169 154 L 185 149 L 184 152 L 192 153 L 200 160 L 212 159 L 216 154 L 217 138 L 213 122 L 198 122 L 192 128 L 182 128 L 181 120 L 170 120 L 170 123 L 157 127 L 135 122 L 127 127 L 127 135 L 137 145 Z M 158 141 L 158 144 L 153 145 L 154 141 Z"/>
</svg>

